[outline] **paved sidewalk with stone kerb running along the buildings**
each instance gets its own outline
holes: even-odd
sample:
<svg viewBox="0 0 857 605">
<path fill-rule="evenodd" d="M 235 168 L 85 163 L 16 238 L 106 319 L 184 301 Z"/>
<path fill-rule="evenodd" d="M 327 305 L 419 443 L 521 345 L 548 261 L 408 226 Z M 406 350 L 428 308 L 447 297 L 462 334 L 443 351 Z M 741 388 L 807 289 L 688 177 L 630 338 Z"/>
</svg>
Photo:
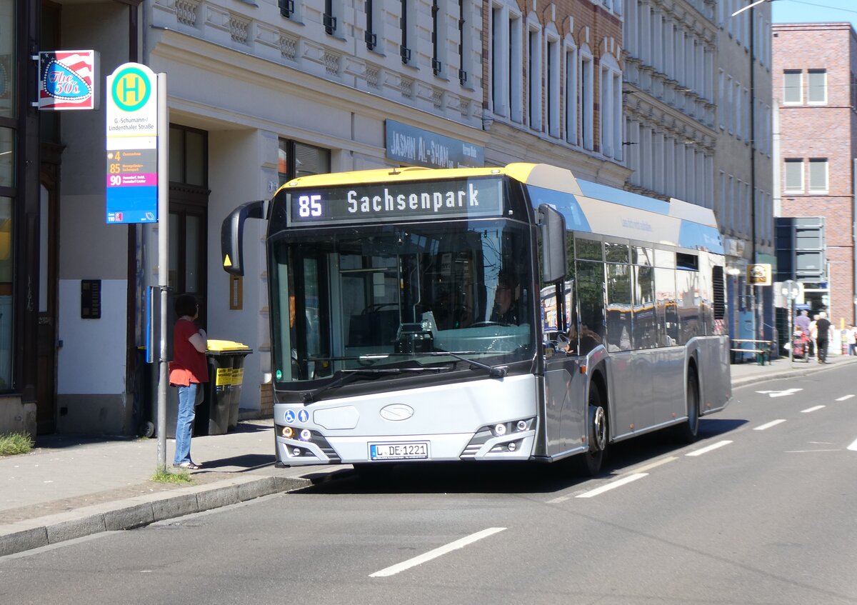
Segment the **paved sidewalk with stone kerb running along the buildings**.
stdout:
<svg viewBox="0 0 857 605">
<path fill-rule="evenodd" d="M 831 356 L 830 364 L 788 357 L 770 365 L 738 363 L 732 385 L 800 376 L 857 362 Z M 171 463 L 174 441 L 167 440 Z M 149 481 L 158 462 L 156 439 L 48 435 L 33 452 L 0 458 L 0 556 L 99 531 L 129 530 L 166 518 L 307 487 L 351 465 L 274 468 L 273 421 L 239 422 L 237 431 L 195 437 L 189 487 Z"/>
</svg>

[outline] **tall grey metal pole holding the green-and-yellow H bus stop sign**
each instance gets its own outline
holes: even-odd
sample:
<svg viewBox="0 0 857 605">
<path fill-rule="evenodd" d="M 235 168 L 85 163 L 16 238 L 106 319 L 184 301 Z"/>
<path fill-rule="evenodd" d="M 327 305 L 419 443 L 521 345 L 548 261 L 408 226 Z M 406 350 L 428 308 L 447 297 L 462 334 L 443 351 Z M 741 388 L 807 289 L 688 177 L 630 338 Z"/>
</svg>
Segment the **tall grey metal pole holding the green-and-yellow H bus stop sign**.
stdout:
<svg viewBox="0 0 857 605">
<path fill-rule="evenodd" d="M 170 267 L 170 239 L 167 226 L 170 225 L 169 196 L 169 157 L 170 120 L 166 106 L 166 74 L 158 74 L 158 285 L 160 290 L 160 355 L 158 380 L 158 468 L 166 470 L 166 390 L 169 387 L 167 367 L 167 336 L 170 333 L 166 324 L 169 304 L 168 270 Z"/>
</svg>

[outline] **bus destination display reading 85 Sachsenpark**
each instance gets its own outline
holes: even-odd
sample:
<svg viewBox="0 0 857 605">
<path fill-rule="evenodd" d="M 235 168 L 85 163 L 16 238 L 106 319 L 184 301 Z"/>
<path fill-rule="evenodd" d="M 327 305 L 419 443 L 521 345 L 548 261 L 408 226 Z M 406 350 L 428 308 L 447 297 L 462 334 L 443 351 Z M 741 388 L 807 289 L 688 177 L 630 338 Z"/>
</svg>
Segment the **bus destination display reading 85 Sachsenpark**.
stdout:
<svg viewBox="0 0 857 605">
<path fill-rule="evenodd" d="M 496 217 L 503 207 L 502 187 L 498 178 L 482 178 L 370 183 L 285 193 L 289 225 L 337 225 Z"/>
</svg>

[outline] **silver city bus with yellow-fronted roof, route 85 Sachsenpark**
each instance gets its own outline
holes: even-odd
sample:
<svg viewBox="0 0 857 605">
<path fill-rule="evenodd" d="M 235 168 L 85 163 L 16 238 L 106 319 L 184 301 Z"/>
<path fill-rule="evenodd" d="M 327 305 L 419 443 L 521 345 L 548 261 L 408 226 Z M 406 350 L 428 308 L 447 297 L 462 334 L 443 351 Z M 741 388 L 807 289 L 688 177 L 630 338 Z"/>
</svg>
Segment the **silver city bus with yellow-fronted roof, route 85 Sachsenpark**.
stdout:
<svg viewBox="0 0 857 605">
<path fill-rule="evenodd" d="M 250 218 L 278 464 L 574 457 L 594 475 L 611 443 L 690 442 L 732 396 L 708 208 L 524 163 L 306 176 L 225 219 L 227 272 Z"/>
</svg>

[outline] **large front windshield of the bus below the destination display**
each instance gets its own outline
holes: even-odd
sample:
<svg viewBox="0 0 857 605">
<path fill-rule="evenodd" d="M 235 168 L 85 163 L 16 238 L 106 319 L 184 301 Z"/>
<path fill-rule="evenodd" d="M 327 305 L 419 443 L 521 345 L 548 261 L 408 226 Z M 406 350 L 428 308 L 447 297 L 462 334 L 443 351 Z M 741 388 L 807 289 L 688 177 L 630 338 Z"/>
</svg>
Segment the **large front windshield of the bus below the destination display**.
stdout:
<svg viewBox="0 0 857 605">
<path fill-rule="evenodd" d="M 268 244 L 281 387 L 355 369 L 494 368 L 535 354 L 523 223 L 351 225 L 281 231 Z"/>
</svg>

